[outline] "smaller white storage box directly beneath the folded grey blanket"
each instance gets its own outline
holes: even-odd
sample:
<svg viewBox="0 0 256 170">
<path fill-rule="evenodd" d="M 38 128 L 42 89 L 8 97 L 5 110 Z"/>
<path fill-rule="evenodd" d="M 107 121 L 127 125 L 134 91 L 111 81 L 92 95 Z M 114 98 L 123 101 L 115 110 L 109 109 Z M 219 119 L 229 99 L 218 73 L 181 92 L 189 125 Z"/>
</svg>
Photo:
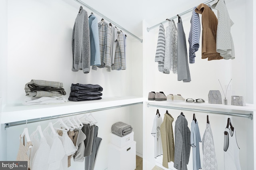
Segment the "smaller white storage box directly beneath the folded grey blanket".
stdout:
<svg viewBox="0 0 256 170">
<path fill-rule="evenodd" d="M 133 142 L 134 132 L 127 134 L 126 136 L 118 136 L 114 133 L 110 133 L 110 142 L 119 148 L 123 148 L 124 146 Z"/>
</svg>

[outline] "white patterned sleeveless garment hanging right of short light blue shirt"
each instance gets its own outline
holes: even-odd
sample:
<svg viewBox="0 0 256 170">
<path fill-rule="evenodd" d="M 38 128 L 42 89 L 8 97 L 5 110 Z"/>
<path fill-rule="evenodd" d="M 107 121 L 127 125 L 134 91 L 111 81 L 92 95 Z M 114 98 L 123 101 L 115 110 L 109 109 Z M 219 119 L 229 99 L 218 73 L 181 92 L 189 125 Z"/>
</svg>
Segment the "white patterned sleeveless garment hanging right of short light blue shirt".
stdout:
<svg viewBox="0 0 256 170">
<path fill-rule="evenodd" d="M 206 129 L 202 138 L 203 150 L 203 169 L 218 170 L 217 159 L 212 135 L 212 129 L 209 123 L 206 123 Z"/>
</svg>

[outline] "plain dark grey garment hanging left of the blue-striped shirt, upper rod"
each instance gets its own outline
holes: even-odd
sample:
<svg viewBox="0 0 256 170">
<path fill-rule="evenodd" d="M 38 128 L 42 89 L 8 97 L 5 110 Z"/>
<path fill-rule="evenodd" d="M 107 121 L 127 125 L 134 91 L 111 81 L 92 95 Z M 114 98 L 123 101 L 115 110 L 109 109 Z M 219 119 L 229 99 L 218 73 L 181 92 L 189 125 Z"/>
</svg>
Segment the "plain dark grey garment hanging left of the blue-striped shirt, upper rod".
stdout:
<svg viewBox="0 0 256 170">
<path fill-rule="evenodd" d="M 190 82 L 190 71 L 188 66 L 188 53 L 186 36 L 183 30 L 181 17 L 178 17 L 178 81 L 183 80 L 183 82 Z"/>
</svg>

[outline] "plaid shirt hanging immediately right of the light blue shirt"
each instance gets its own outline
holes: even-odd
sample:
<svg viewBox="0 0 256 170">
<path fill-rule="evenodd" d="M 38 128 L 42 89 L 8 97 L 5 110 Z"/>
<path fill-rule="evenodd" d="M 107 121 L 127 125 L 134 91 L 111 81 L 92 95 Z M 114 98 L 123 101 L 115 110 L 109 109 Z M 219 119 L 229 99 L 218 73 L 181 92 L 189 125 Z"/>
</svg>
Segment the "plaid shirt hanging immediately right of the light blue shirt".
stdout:
<svg viewBox="0 0 256 170">
<path fill-rule="evenodd" d="M 104 68 L 105 63 L 103 61 L 104 59 L 104 51 L 105 51 L 105 46 L 106 46 L 106 40 L 107 40 L 107 29 L 108 29 L 108 23 L 106 23 L 104 20 L 101 20 L 98 23 L 98 28 L 99 28 L 99 40 L 100 40 L 100 61 L 101 65 L 97 66 L 99 68 Z M 93 70 L 97 70 L 96 66 L 92 66 Z"/>
</svg>

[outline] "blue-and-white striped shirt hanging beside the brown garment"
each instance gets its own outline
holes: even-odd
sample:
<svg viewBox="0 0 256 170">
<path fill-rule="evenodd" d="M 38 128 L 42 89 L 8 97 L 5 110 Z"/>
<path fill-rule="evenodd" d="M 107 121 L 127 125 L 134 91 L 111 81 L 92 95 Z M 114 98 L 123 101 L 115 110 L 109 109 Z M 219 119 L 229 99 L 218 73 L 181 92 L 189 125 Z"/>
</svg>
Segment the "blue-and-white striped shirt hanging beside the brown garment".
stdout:
<svg viewBox="0 0 256 170">
<path fill-rule="evenodd" d="M 195 63 L 195 57 L 196 57 L 195 52 L 198 51 L 198 48 L 199 48 L 199 38 L 200 38 L 200 31 L 201 31 L 200 18 L 198 13 L 195 12 L 195 9 L 196 9 L 196 6 L 194 7 L 194 10 L 192 12 L 192 17 L 190 20 L 191 26 L 190 26 L 189 36 L 188 36 L 190 64 Z"/>
</svg>

